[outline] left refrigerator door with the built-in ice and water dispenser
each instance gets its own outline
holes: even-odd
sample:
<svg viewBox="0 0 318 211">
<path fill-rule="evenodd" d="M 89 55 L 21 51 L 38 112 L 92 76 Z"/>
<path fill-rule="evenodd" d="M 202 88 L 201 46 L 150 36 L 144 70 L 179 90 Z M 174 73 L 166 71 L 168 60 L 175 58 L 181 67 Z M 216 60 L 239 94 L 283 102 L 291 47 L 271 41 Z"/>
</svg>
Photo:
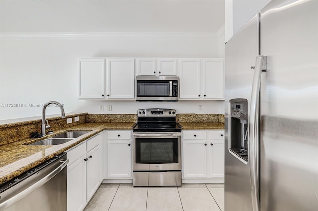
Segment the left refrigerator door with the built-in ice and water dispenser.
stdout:
<svg viewBox="0 0 318 211">
<path fill-rule="evenodd" d="M 225 210 L 252 211 L 248 157 L 248 107 L 255 58 L 259 55 L 259 14 L 225 45 Z M 231 107 L 232 105 L 232 107 Z M 231 112 L 232 111 L 232 112 Z M 231 134 L 232 131 L 232 134 Z M 232 150 L 231 150 L 231 149 Z M 239 149 L 241 148 L 241 149 Z M 235 153 L 235 150 L 242 153 Z"/>
</svg>

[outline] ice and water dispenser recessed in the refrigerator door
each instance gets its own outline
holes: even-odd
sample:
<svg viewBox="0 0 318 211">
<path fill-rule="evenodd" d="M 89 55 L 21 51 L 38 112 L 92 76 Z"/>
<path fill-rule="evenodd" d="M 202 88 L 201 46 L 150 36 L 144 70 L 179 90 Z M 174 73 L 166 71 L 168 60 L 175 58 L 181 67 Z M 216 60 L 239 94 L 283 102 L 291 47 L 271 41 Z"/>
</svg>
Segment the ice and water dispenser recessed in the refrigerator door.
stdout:
<svg viewBox="0 0 318 211">
<path fill-rule="evenodd" d="M 247 99 L 230 100 L 230 137 L 229 148 L 232 154 L 248 161 L 248 113 Z"/>
</svg>

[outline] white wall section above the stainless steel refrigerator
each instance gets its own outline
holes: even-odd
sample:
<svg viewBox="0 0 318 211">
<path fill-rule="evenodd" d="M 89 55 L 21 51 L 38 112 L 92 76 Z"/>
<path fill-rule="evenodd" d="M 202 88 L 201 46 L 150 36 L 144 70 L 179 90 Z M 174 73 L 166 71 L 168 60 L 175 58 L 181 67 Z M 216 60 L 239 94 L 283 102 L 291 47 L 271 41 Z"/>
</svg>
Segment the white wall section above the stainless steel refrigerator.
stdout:
<svg viewBox="0 0 318 211">
<path fill-rule="evenodd" d="M 225 0 L 225 41 L 271 0 Z"/>
</svg>

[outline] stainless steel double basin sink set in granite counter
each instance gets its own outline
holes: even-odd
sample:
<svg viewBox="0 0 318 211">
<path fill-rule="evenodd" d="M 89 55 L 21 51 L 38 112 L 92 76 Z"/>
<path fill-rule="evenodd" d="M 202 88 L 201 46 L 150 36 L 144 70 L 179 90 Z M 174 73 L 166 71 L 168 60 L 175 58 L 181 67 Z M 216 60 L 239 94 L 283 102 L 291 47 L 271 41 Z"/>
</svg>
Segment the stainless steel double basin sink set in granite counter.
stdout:
<svg viewBox="0 0 318 211">
<path fill-rule="evenodd" d="M 79 136 L 82 136 L 86 133 L 89 133 L 90 131 L 68 131 L 61 133 L 59 135 L 55 135 L 51 138 L 47 138 L 41 141 L 37 141 L 31 144 L 27 145 L 58 145 L 58 144 L 64 144 L 68 141 L 71 141 L 72 139 L 78 138 Z"/>
</svg>

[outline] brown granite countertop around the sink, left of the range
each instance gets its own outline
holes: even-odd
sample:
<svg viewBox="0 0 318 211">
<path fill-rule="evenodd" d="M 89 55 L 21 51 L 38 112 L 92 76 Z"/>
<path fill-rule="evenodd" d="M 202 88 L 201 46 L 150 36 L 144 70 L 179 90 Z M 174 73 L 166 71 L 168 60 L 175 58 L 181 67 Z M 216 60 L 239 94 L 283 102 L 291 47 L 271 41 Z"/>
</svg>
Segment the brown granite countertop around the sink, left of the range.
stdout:
<svg viewBox="0 0 318 211">
<path fill-rule="evenodd" d="M 130 130 L 133 125 L 133 122 L 83 123 L 67 129 L 55 131 L 50 135 L 46 135 L 45 138 L 29 138 L 2 145 L 0 146 L 0 185 L 105 129 Z M 33 143 L 70 130 L 89 130 L 90 132 L 59 145 L 23 145 L 23 143 L 26 142 Z"/>
</svg>

